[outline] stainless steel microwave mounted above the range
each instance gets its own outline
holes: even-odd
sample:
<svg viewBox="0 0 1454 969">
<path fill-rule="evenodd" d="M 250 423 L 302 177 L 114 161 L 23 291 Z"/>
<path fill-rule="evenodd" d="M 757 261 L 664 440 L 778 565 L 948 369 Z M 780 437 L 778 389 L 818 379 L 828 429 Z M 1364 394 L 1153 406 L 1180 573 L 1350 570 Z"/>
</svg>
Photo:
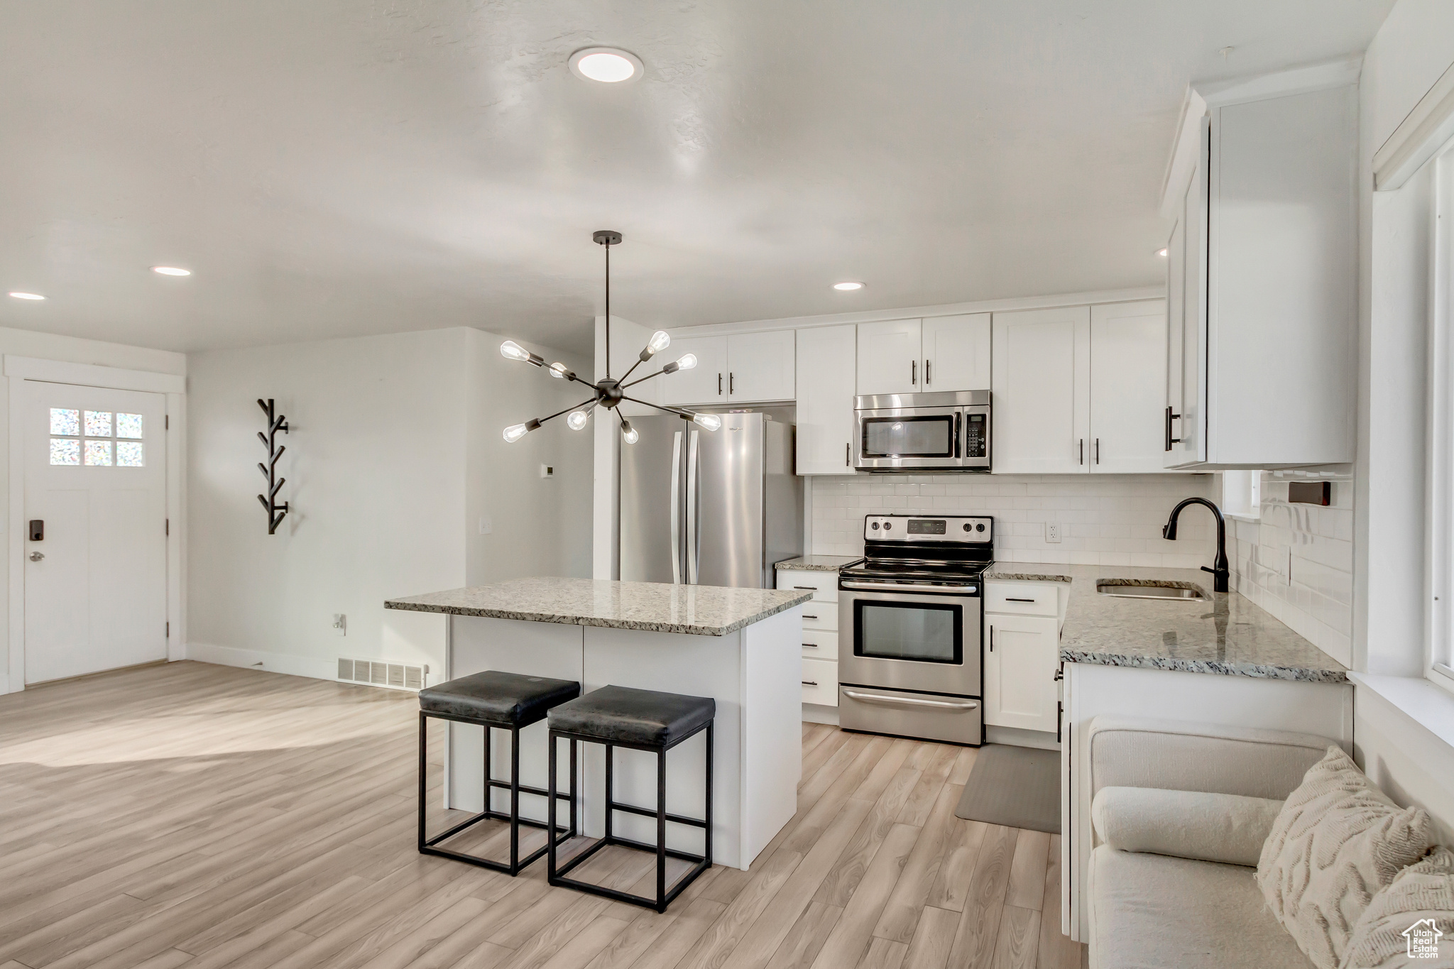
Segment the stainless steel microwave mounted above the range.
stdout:
<svg viewBox="0 0 1454 969">
<path fill-rule="evenodd" d="M 853 398 L 853 466 L 864 471 L 989 471 L 990 392 Z"/>
</svg>

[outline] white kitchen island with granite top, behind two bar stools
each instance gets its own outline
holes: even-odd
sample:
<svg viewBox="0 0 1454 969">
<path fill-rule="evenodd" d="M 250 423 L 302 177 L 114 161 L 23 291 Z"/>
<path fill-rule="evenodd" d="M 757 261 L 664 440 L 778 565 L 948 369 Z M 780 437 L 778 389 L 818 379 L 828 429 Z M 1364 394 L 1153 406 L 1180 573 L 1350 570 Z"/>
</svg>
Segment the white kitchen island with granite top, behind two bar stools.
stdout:
<svg viewBox="0 0 1454 969">
<path fill-rule="evenodd" d="M 385 609 L 443 613 L 443 678 L 483 670 L 576 680 L 582 692 L 625 686 L 717 700 L 712 856 L 746 869 L 797 811 L 801 758 L 800 631 L 811 593 L 589 578 L 521 578 L 393 599 Z M 445 805 L 480 811 L 483 731 L 451 723 Z M 702 816 L 705 737 L 667 754 L 667 811 Z M 545 723 L 521 731 L 521 782 L 544 787 Z M 496 764 L 509 737 L 494 731 Z M 563 758 L 564 760 L 564 758 Z M 582 830 L 603 832 L 605 755 L 582 747 Z M 497 777 L 503 773 L 497 769 Z M 618 750 L 615 799 L 654 806 L 656 755 Z M 560 779 L 560 786 L 567 783 Z M 496 795 L 497 798 L 500 795 Z M 499 803 L 496 805 L 500 806 Z M 544 819 L 544 798 L 521 796 L 523 816 Z M 656 841 L 648 818 L 618 814 L 615 830 Z M 701 834 L 667 827 L 667 846 L 701 850 Z"/>
</svg>

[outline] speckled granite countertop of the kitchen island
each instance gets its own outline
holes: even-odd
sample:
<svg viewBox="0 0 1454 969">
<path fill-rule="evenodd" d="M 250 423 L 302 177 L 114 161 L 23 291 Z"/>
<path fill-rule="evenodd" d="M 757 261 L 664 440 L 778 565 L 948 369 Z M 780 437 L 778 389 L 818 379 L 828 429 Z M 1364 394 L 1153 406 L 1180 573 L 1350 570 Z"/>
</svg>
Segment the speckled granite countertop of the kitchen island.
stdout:
<svg viewBox="0 0 1454 969">
<path fill-rule="evenodd" d="M 384 609 L 726 636 L 810 599 L 811 591 L 541 577 L 390 599 Z"/>
</svg>

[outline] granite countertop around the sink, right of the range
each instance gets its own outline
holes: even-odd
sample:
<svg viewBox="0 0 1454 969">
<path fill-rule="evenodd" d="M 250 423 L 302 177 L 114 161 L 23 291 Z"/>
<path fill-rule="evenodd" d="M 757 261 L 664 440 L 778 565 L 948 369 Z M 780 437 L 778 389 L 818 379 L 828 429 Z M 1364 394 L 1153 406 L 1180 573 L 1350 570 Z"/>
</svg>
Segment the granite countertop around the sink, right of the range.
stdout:
<svg viewBox="0 0 1454 969">
<path fill-rule="evenodd" d="M 1050 574 L 1037 574 L 1035 568 Z M 1211 575 L 1200 569 L 1009 562 L 986 574 L 986 580 L 992 578 L 1070 583 L 1060 631 L 1060 658 L 1067 662 L 1307 683 L 1348 678 L 1348 667 L 1250 600 L 1239 593 L 1213 593 Z M 1211 601 L 1102 596 L 1095 587 L 1105 578 L 1200 588 Z"/>
</svg>

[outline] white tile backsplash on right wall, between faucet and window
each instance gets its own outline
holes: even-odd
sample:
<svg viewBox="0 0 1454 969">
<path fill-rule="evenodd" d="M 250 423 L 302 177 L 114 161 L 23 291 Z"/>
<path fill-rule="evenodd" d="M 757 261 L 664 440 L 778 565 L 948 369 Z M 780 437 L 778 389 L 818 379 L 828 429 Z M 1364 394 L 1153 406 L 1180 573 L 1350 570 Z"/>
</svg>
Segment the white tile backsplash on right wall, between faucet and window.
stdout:
<svg viewBox="0 0 1454 969">
<path fill-rule="evenodd" d="M 1352 665 L 1354 481 L 1326 469 L 1332 506 L 1291 504 L 1288 481 L 1307 472 L 1262 472 L 1261 519 L 1229 519 L 1232 587 L 1343 665 Z"/>
</svg>

